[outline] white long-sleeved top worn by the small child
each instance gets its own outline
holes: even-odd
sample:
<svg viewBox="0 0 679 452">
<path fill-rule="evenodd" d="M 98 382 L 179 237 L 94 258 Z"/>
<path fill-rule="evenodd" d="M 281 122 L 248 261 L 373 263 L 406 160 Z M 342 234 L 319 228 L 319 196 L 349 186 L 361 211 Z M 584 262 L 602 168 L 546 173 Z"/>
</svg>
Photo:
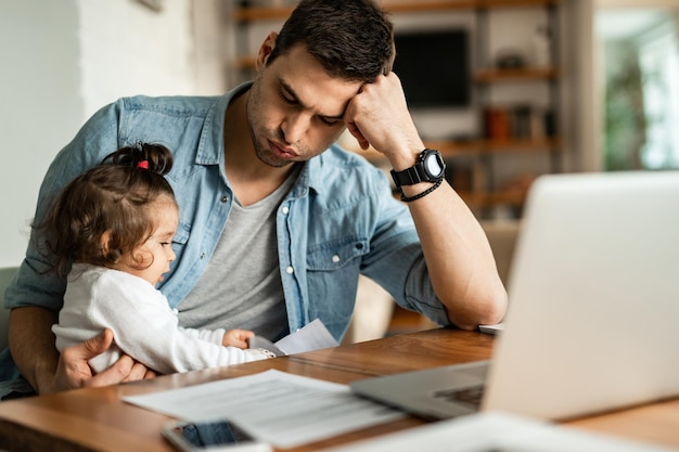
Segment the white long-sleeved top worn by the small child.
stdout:
<svg viewBox="0 0 679 452">
<path fill-rule="evenodd" d="M 163 374 L 267 358 L 261 350 L 223 347 L 225 330 L 180 327 L 167 298 L 141 277 L 75 263 L 68 274 L 59 324 L 52 326 L 56 348 L 62 351 L 97 336 L 105 327 L 113 331 L 115 345 L 90 360 L 95 372 L 107 369 L 121 353 Z"/>
</svg>

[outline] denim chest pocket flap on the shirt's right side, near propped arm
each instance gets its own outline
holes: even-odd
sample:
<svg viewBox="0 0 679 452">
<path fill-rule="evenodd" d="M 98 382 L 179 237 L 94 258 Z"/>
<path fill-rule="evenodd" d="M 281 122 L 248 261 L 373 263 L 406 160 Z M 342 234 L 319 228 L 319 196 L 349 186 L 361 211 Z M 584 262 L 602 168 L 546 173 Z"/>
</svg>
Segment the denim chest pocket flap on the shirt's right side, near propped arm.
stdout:
<svg viewBox="0 0 679 452">
<path fill-rule="evenodd" d="M 309 247 L 307 269 L 309 271 L 335 271 L 359 266 L 360 258 L 369 251 L 369 241 L 344 237 Z"/>
</svg>

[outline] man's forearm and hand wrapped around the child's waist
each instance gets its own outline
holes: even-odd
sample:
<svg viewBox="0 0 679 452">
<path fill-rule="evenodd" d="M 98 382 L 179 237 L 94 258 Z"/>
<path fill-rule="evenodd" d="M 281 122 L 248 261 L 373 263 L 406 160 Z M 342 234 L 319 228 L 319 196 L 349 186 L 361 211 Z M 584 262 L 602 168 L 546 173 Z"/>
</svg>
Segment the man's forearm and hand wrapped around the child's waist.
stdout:
<svg viewBox="0 0 679 452">
<path fill-rule="evenodd" d="M 105 386 L 154 377 L 145 366 L 123 356 L 106 371 L 92 375 L 88 364 L 113 344 L 113 333 L 105 330 L 99 336 L 64 349 L 54 346 L 52 324 L 56 313 L 44 308 L 15 308 L 10 312 L 9 339 L 12 358 L 18 371 L 38 393 L 50 393 L 86 386 Z"/>
</svg>

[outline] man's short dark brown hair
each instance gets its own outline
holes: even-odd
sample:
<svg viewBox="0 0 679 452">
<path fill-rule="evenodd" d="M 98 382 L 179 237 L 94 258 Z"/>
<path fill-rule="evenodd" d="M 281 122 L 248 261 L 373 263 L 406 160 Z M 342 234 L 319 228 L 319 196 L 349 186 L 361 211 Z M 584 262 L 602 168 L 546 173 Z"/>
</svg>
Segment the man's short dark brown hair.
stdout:
<svg viewBox="0 0 679 452">
<path fill-rule="evenodd" d="M 394 63 L 394 29 L 372 0 L 302 0 L 267 64 L 304 44 L 331 77 L 372 82 Z"/>
</svg>

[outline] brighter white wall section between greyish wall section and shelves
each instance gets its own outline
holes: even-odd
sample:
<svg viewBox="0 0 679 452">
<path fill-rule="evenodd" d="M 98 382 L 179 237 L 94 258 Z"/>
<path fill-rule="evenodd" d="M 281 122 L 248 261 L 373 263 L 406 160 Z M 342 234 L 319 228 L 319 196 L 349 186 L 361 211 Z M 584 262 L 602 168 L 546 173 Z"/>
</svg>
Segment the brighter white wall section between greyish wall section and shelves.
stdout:
<svg viewBox="0 0 679 452">
<path fill-rule="evenodd" d="M 156 12 L 130 0 L 79 0 L 80 96 L 90 116 L 123 95 L 190 94 L 194 88 L 191 4 Z"/>
</svg>

